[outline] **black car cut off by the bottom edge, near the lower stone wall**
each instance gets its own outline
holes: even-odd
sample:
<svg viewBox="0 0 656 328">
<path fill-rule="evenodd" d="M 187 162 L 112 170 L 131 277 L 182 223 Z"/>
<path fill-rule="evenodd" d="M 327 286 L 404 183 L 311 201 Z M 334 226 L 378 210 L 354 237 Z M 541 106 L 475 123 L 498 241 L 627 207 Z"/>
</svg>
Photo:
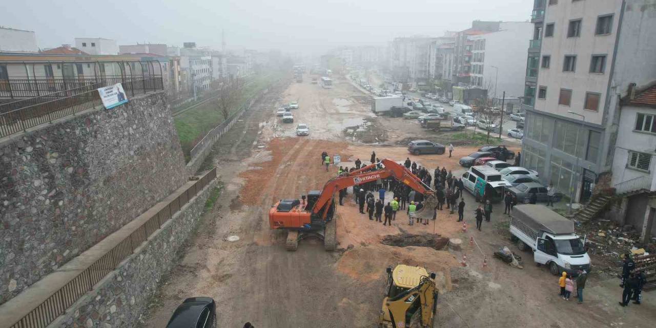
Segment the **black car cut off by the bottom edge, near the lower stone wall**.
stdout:
<svg viewBox="0 0 656 328">
<path fill-rule="evenodd" d="M 190 297 L 173 312 L 166 328 L 215 328 L 216 303 L 211 297 Z"/>
</svg>

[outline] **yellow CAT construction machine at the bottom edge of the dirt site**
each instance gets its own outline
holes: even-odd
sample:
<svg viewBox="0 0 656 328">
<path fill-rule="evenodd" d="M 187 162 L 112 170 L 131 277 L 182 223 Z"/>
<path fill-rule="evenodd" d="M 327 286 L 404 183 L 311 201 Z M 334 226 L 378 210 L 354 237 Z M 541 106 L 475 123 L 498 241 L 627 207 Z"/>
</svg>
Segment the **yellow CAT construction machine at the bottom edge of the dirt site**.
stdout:
<svg viewBox="0 0 656 328">
<path fill-rule="evenodd" d="M 387 291 L 382 300 L 379 328 L 428 328 L 438 304 L 435 274 L 426 268 L 399 264 L 387 268 Z"/>
</svg>

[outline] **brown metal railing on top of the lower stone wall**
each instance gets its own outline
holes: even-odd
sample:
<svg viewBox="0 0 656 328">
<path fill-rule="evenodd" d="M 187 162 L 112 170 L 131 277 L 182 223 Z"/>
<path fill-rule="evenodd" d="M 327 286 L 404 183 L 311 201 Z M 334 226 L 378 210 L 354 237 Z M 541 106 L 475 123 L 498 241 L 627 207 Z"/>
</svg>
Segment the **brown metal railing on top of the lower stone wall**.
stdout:
<svg viewBox="0 0 656 328">
<path fill-rule="evenodd" d="M 180 211 L 180 209 L 197 195 L 209 182 L 216 178 L 216 167 L 196 180 L 185 192 L 173 199 L 163 209 L 151 216 L 132 234 L 125 237 L 115 247 L 108 251 L 83 270 L 79 275 L 68 281 L 54 294 L 46 298 L 41 304 L 30 310 L 18 322 L 12 323 L 11 328 L 45 328 L 54 319 L 62 315 L 66 309 L 73 305 L 85 293 L 91 291 L 93 286 L 101 279 L 115 270 L 119 263 L 132 255 L 150 235 Z"/>
</svg>

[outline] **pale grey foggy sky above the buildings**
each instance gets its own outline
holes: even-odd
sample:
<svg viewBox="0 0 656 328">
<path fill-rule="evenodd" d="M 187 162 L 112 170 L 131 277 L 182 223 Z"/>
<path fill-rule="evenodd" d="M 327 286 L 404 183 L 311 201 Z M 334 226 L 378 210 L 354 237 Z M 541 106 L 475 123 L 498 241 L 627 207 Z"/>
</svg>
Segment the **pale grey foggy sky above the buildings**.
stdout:
<svg viewBox="0 0 656 328">
<path fill-rule="evenodd" d="M 220 49 L 321 52 L 384 45 L 394 37 L 441 36 L 472 20 L 529 20 L 532 0 L 28 0 L 1 1 L 0 25 L 37 33 L 39 47 L 105 37 Z"/>
</svg>

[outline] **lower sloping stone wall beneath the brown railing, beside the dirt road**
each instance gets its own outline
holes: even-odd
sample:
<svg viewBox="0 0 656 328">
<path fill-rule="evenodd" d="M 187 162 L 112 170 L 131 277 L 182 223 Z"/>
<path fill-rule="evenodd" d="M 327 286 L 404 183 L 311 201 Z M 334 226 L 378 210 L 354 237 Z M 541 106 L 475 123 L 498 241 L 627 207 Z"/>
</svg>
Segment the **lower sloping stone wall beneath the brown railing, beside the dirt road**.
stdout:
<svg viewBox="0 0 656 328">
<path fill-rule="evenodd" d="M 136 327 L 159 280 L 176 264 L 176 252 L 194 231 L 216 181 L 48 327 Z"/>
</svg>

